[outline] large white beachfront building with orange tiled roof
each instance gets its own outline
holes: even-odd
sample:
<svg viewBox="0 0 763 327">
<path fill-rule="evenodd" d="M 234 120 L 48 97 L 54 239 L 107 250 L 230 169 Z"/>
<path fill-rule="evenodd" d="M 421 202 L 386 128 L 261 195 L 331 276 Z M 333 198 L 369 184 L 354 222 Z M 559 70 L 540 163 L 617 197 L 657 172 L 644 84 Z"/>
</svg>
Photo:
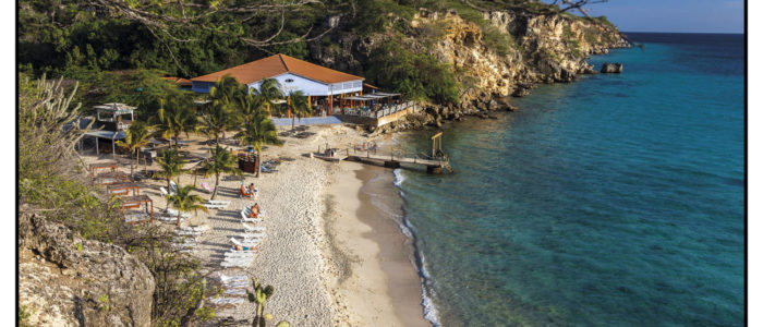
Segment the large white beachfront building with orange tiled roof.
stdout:
<svg viewBox="0 0 763 327">
<path fill-rule="evenodd" d="M 265 78 L 274 78 L 283 94 L 301 90 L 308 96 L 314 116 L 334 114 L 347 96 L 363 92 L 363 77 L 335 71 L 286 55 L 274 55 L 216 73 L 191 78 L 192 89 L 209 93 L 222 76 L 230 75 L 250 89 L 259 89 Z"/>
</svg>

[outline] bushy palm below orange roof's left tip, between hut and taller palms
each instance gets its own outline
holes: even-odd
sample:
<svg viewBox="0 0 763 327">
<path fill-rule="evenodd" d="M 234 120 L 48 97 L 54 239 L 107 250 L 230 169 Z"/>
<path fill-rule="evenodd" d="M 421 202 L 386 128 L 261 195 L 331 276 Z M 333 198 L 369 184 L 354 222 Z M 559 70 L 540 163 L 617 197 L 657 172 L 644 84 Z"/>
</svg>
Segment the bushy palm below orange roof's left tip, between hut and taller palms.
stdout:
<svg viewBox="0 0 763 327">
<path fill-rule="evenodd" d="M 174 137 L 174 147 L 178 148 L 181 133 L 189 136 L 190 132 L 196 131 L 198 121 L 195 108 L 190 97 L 181 95 L 168 95 L 161 99 L 158 111 L 158 132 L 165 138 Z"/>
</svg>

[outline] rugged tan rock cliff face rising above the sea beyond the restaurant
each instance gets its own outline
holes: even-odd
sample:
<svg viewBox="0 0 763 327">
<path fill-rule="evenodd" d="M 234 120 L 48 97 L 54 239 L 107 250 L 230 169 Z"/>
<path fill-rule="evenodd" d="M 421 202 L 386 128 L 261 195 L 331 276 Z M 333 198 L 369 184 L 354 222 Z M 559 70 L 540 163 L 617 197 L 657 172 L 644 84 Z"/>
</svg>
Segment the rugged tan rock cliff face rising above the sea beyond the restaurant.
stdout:
<svg viewBox="0 0 763 327">
<path fill-rule="evenodd" d="M 404 130 L 439 125 L 443 120 L 463 116 L 484 117 L 492 110 L 516 110 L 507 97 L 526 96 L 538 83 L 567 83 L 580 74 L 594 74 L 588 57 L 629 47 L 606 20 L 513 11 L 484 12 L 483 19 L 487 27 L 464 20 L 456 11 L 421 9 L 411 20 L 396 19 L 396 28 L 364 37 L 340 34 L 330 47 L 311 44 L 311 53 L 328 66 L 362 71 L 376 47 L 395 39 L 415 53 L 431 55 L 447 64 L 461 84 L 460 102 L 423 104 L 421 117 L 385 128 Z M 338 17 L 327 20 L 327 24 L 341 28 Z"/>
</svg>

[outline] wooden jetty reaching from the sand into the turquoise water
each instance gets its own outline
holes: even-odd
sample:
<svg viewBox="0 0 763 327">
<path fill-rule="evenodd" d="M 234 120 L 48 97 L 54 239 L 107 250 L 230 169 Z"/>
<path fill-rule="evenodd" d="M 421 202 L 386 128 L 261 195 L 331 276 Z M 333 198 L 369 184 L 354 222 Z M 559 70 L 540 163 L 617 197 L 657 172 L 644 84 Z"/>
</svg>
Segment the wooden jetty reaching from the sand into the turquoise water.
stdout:
<svg viewBox="0 0 763 327">
<path fill-rule="evenodd" d="M 377 166 L 384 166 L 388 168 L 399 168 L 401 164 L 408 166 L 426 167 L 426 171 L 429 173 L 443 173 L 444 171 L 452 172 L 448 162 L 448 157 L 443 154 L 443 141 L 440 137 L 443 132 L 432 136 L 432 154 L 429 158 L 419 158 L 417 156 L 405 156 L 401 153 L 396 155 L 395 152 L 390 154 L 377 154 L 376 149 L 339 149 L 339 148 L 326 148 L 323 152 L 318 147 L 317 153 L 311 154 L 311 157 L 323 159 L 326 161 L 340 162 L 342 160 L 359 161 L 359 162 L 371 162 Z"/>
</svg>

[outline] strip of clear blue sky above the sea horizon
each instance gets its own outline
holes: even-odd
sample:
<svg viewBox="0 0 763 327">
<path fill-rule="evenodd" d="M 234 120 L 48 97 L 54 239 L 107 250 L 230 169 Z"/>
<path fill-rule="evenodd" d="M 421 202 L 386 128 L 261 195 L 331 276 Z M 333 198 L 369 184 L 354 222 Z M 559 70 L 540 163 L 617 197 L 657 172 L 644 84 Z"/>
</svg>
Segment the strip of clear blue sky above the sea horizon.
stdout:
<svg viewBox="0 0 763 327">
<path fill-rule="evenodd" d="M 585 8 L 623 32 L 744 33 L 744 0 L 608 0 Z"/>
</svg>

